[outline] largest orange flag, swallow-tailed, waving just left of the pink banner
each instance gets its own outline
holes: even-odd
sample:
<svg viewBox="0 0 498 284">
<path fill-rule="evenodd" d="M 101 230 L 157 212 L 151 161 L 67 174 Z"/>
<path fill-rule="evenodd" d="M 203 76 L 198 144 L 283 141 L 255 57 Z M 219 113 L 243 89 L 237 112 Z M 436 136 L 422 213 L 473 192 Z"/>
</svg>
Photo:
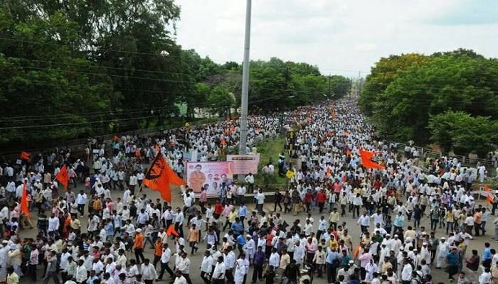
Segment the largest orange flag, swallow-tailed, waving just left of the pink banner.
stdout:
<svg viewBox="0 0 498 284">
<path fill-rule="evenodd" d="M 144 185 L 150 187 L 151 190 L 161 192 L 162 199 L 171 203 L 170 183 L 186 185 L 186 182 L 169 168 L 161 153 L 157 153 L 156 158 L 154 158 L 152 165 L 145 174 Z"/>
</svg>

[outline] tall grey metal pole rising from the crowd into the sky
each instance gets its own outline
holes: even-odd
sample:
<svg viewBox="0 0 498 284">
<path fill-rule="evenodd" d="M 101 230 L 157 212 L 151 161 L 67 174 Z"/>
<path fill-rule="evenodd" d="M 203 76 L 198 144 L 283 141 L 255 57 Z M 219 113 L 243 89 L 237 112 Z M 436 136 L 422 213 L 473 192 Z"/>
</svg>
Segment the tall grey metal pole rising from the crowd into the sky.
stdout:
<svg viewBox="0 0 498 284">
<path fill-rule="evenodd" d="M 250 9 L 251 0 L 245 6 L 244 63 L 242 68 L 242 95 L 240 96 L 240 143 L 238 153 L 245 154 L 248 142 L 248 100 L 249 100 L 249 48 L 250 48 Z M 243 181 L 245 175 L 238 175 Z"/>
</svg>

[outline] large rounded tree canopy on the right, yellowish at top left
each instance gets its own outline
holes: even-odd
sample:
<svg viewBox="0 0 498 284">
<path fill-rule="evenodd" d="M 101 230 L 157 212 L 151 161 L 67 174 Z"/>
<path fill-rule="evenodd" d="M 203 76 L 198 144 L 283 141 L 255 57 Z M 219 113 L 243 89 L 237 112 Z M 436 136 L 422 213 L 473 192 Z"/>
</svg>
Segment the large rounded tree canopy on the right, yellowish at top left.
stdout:
<svg viewBox="0 0 498 284">
<path fill-rule="evenodd" d="M 445 53 L 401 72 L 373 102 L 378 132 L 396 140 L 428 143 L 430 116 L 465 111 L 498 118 L 496 60 Z"/>
</svg>

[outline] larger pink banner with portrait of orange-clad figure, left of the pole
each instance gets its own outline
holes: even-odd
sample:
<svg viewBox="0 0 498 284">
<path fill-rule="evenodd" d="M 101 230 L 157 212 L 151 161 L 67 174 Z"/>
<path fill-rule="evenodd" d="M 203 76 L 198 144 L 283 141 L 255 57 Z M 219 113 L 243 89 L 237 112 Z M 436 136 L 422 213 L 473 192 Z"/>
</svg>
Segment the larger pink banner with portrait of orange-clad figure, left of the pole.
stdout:
<svg viewBox="0 0 498 284">
<path fill-rule="evenodd" d="M 186 164 L 187 185 L 194 192 L 206 189 L 208 195 L 218 195 L 223 182 L 233 182 L 233 162 L 194 162 Z"/>
</svg>

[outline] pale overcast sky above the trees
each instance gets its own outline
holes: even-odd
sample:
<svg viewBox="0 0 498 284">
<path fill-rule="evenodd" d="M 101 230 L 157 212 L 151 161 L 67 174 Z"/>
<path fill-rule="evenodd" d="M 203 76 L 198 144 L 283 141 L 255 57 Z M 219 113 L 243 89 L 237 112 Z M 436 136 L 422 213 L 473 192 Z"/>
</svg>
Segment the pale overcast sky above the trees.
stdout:
<svg viewBox="0 0 498 284">
<path fill-rule="evenodd" d="M 245 0 L 176 3 L 183 48 L 242 62 Z M 253 60 L 275 56 L 357 77 L 391 54 L 457 48 L 498 57 L 498 0 L 253 0 Z"/>
</svg>

